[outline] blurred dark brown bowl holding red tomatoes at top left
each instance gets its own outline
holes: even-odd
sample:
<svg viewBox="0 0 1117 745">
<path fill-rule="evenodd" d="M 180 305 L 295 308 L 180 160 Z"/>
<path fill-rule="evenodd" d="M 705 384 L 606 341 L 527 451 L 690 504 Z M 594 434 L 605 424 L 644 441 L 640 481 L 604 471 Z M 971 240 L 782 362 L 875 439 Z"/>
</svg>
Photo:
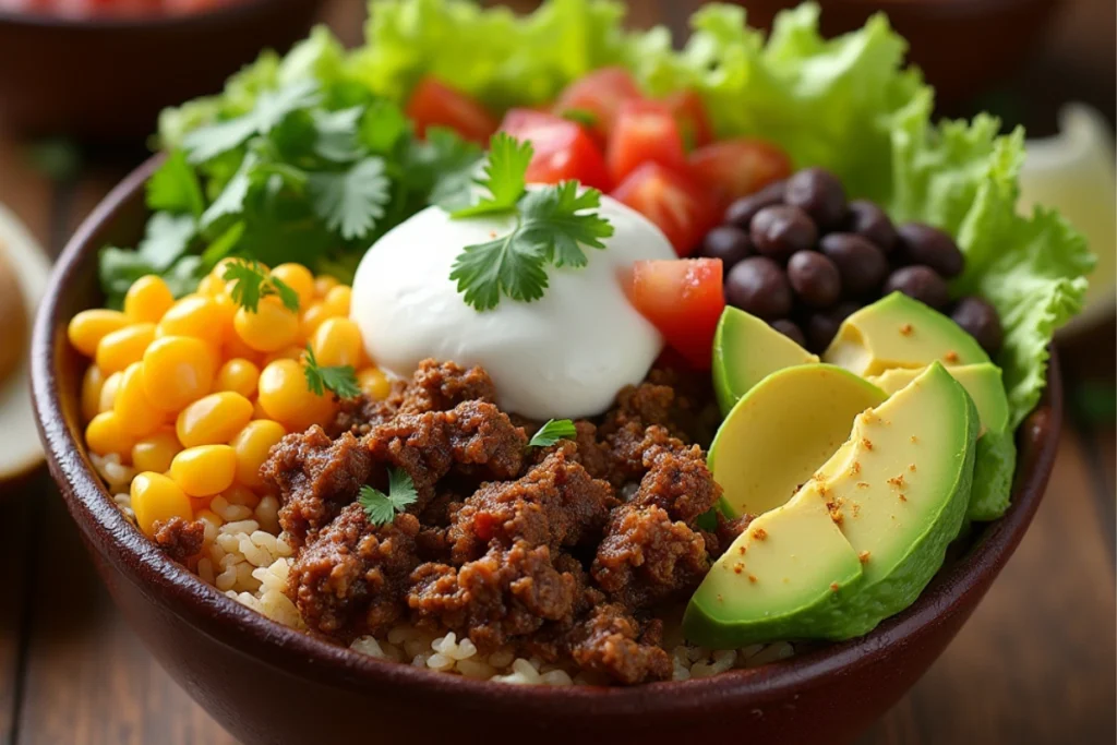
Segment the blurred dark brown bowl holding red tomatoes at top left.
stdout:
<svg viewBox="0 0 1117 745">
<path fill-rule="evenodd" d="M 0 125 L 85 140 L 144 137 L 164 106 L 306 35 L 323 0 L 237 0 L 136 19 L 0 11 Z"/>
</svg>

